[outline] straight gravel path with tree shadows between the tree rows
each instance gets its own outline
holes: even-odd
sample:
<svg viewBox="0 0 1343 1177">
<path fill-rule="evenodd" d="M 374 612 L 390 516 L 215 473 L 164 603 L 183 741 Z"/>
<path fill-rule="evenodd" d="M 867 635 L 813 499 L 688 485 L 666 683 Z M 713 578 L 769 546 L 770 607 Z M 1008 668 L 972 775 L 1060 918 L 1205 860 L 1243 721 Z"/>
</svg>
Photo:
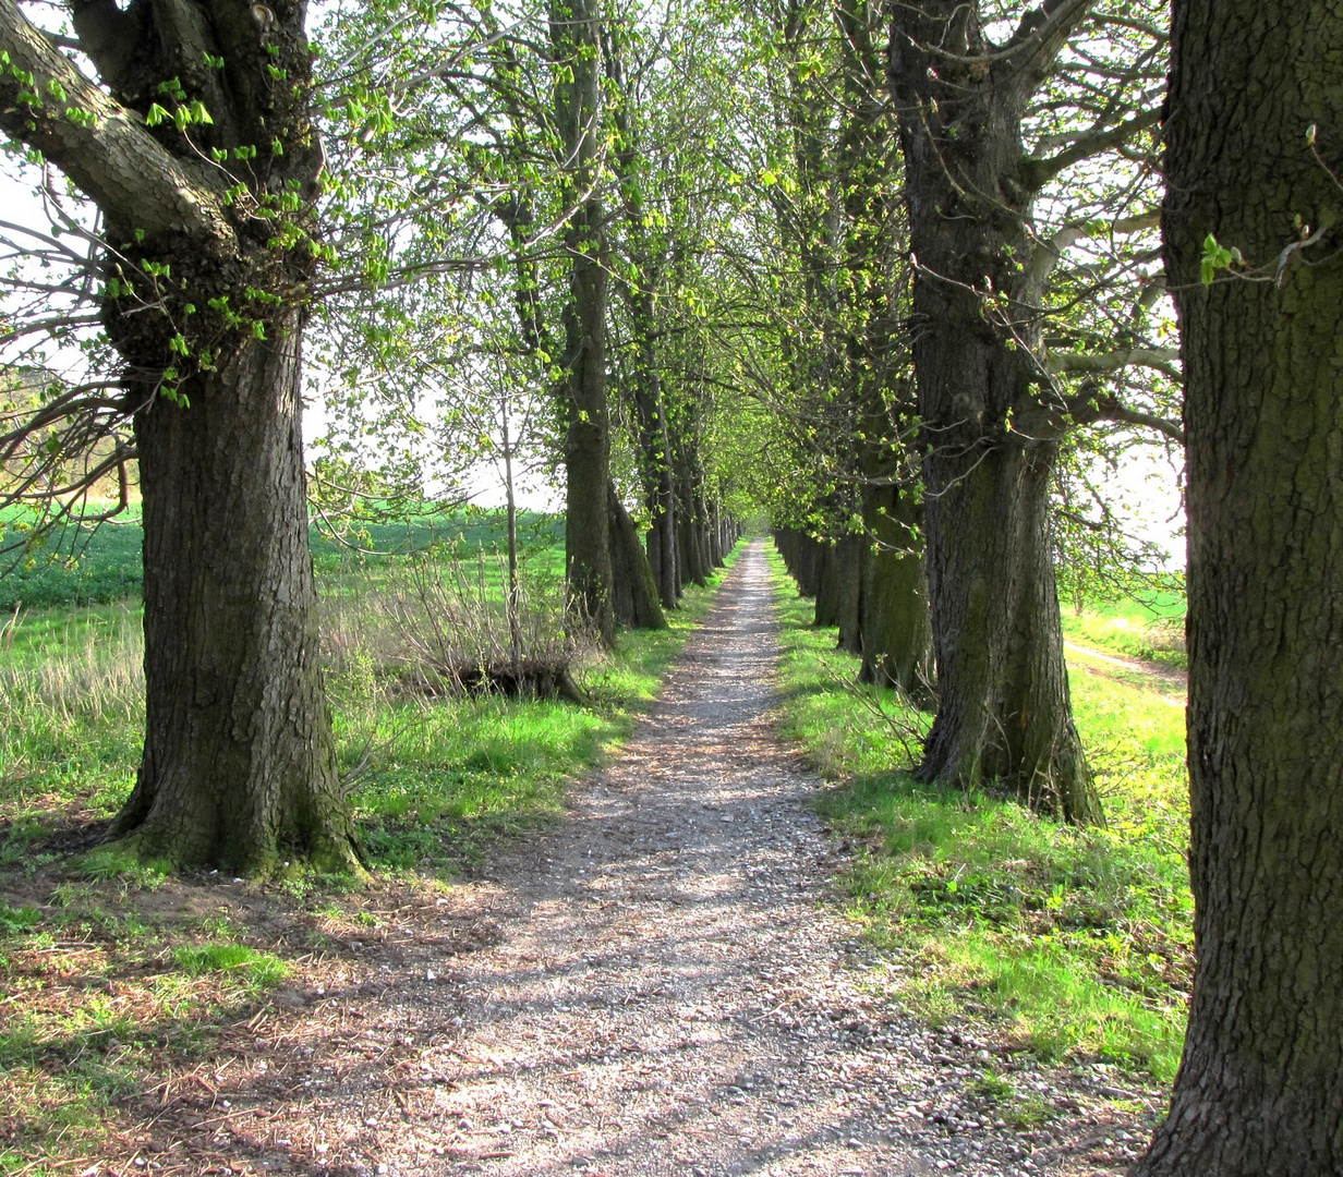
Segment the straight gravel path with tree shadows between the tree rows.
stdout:
<svg viewBox="0 0 1343 1177">
<path fill-rule="evenodd" d="M 818 782 L 770 718 L 774 624 L 755 544 L 572 816 L 463 888 L 482 946 L 403 962 L 351 1007 L 383 1062 L 305 1080 L 316 1172 L 1119 1172 L 1103 1074 L 1048 1086 L 1074 1117 L 1023 1135 L 967 1094 L 988 1044 L 881 999 L 900 966 L 837 914 Z"/>
</svg>

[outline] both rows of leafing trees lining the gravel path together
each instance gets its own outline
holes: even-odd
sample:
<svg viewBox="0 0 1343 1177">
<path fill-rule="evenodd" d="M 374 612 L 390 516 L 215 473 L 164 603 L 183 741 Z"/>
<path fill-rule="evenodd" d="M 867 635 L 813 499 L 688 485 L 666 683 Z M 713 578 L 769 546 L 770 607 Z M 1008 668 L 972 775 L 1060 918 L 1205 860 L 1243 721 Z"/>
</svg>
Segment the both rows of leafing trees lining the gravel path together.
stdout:
<svg viewBox="0 0 1343 1177">
<path fill-rule="evenodd" d="M 1068 463 L 1187 433 L 1199 964 L 1140 1172 L 1343 1168 L 1331 5 L 337 4 L 316 72 L 297 0 L 70 16 L 0 0 L 0 126 L 98 215 L 47 173 L 15 290 L 60 313 L 3 342 L 82 338 L 90 306 L 101 334 L 0 456 L 113 435 L 138 462 L 146 738 L 117 836 L 359 870 L 308 553 L 314 314 L 334 458 L 369 431 L 391 464 L 454 429 L 541 454 L 603 637 L 658 624 L 767 506 L 865 675 L 935 688 L 920 774 L 1076 821 L 1100 811 L 1053 557 L 1061 519 L 1113 513 Z"/>
</svg>

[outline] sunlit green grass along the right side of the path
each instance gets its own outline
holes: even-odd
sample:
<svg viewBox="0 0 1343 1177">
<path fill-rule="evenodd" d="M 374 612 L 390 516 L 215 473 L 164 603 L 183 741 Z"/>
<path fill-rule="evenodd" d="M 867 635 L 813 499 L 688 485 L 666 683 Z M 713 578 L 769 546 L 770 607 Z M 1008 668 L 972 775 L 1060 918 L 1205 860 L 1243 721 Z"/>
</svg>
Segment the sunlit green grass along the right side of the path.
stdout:
<svg viewBox="0 0 1343 1177">
<path fill-rule="evenodd" d="M 1070 668 L 1107 829 L 919 785 L 901 731 L 928 718 L 850 686 L 857 660 L 811 625 L 811 603 L 771 561 L 786 731 L 834 782 L 819 807 L 854 851 L 845 883 L 886 953 L 884 984 L 935 1023 L 968 1016 L 1041 1059 L 1168 1082 L 1193 969 L 1183 710 L 1170 686 Z"/>
</svg>

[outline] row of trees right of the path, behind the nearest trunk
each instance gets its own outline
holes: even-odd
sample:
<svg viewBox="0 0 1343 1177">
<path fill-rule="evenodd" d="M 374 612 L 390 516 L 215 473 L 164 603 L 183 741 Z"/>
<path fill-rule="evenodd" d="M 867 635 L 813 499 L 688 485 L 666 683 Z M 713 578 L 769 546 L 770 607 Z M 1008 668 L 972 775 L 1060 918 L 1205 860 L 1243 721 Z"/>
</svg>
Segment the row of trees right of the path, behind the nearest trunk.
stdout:
<svg viewBox="0 0 1343 1177">
<path fill-rule="evenodd" d="M 1058 489 L 1085 479 L 1097 423 L 1111 447 L 1182 439 L 1155 248 L 1166 34 L 1156 4 L 1046 5 L 1013 25 L 990 8 L 807 13 L 810 44 L 833 48 L 804 85 L 845 99 L 798 102 L 814 130 L 796 169 L 822 211 L 799 229 L 819 259 L 799 298 L 822 424 L 795 446 L 829 476 L 776 521 L 864 678 L 936 699 L 920 776 L 998 781 L 1091 823 Z M 1072 519 L 1111 531 L 1097 505 Z"/>
</svg>

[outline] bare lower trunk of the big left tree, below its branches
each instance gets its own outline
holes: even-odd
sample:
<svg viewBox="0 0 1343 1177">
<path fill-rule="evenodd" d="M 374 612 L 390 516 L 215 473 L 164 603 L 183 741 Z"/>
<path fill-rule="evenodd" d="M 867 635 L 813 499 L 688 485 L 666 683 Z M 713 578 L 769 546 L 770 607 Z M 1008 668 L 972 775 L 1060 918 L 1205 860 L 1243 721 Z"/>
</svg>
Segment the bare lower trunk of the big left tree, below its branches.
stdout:
<svg viewBox="0 0 1343 1177">
<path fill-rule="evenodd" d="M 265 872 L 355 864 L 308 545 L 298 333 L 244 344 L 189 408 L 136 417 L 145 544 L 145 750 L 113 837 Z"/>
</svg>

